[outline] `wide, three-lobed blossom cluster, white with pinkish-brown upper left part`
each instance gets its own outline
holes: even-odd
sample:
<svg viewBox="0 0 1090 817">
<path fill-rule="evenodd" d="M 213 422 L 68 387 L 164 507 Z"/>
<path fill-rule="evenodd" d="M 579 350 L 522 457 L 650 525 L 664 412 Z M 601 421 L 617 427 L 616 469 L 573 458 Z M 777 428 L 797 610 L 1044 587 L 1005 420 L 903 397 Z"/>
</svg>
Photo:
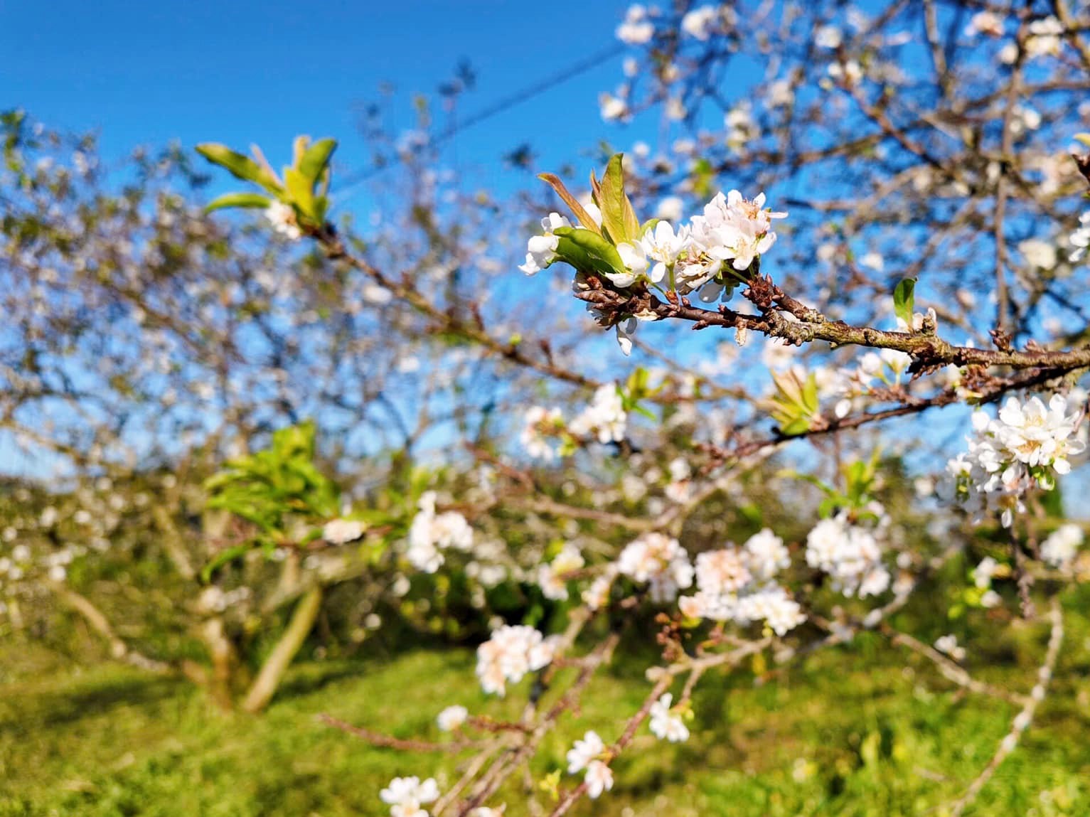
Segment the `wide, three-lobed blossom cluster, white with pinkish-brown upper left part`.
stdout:
<svg viewBox="0 0 1090 817">
<path fill-rule="evenodd" d="M 749 624 L 763 621 L 777 635 L 806 621 L 802 608 L 772 580 L 790 564 L 784 540 L 765 528 L 741 549 L 729 544 L 697 557 L 697 593 L 678 607 L 693 619 Z"/>
</svg>

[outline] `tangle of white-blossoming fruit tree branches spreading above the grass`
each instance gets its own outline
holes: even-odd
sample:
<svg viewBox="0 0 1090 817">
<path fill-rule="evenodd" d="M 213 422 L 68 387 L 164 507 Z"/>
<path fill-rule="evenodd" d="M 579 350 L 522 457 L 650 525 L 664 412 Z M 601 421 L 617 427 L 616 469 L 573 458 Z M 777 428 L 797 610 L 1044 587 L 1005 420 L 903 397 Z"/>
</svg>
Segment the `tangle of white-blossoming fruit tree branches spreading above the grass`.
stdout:
<svg viewBox="0 0 1090 817">
<path fill-rule="evenodd" d="M 517 208 L 445 186 L 426 129 L 390 139 L 413 200 L 335 229 L 332 139 L 299 137 L 279 172 L 201 145 L 249 185 L 201 212 L 155 187 L 100 202 L 82 150 L 61 173 L 8 125 L 2 419 L 78 467 L 70 495 L 13 495 L 4 609 L 65 600 L 113 657 L 171 671 L 66 586 L 153 553 L 228 705 L 235 645 L 280 629 L 254 711 L 330 613 L 356 646 L 387 622 L 468 645 L 475 683 L 417 737 L 326 717 L 471 756 L 434 777 L 407 758 L 373 792 L 391 817 L 628 797 L 628 756 L 705 745 L 701 683 L 881 643 L 934 670 L 913 684 L 1009 707 L 978 777 L 944 783 L 960 814 L 1077 663 L 1065 594 L 1090 553 L 1061 500 L 1088 425 L 1090 159 L 1068 151 L 1090 9 L 880 5 L 630 7 L 601 113 L 664 136 L 610 148 L 583 190 L 542 173 Z M 39 423 L 83 399 L 70 355 L 95 408 Z M 144 462 L 146 428 L 170 444 Z M 1016 630 L 1034 666 L 1001 688 L 980 645 Z M 625 649 L 654 656 L 638 699 L 591 723 Z"/>
</svg>

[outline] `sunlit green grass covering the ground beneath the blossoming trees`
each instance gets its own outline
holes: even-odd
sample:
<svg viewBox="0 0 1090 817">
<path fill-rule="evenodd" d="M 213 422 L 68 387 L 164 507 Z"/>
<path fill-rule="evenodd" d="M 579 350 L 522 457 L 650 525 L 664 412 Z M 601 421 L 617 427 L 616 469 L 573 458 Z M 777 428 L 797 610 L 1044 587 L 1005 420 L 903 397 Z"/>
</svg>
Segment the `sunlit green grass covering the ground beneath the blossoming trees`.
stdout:
<svg viewBox="0 0 1090 817">
<path fill-rule="evenodd" d="M 968 814 L 1090 814 L 1090 629 L 1071 613 L 1055 694 Z M 969 666 L 1025 691 L 1042 627 L 1008 630 L 1009 638 L 976 647 Z M 444 706 L 513 715 L 524 693 L 523 684 L 486 704 L 472 651 L 458 649 L 303 663 L 261 718 L 217 714 L 180 680 L 108 664 L 72 668 L 40 648 L 0 651 L 0 817 L 385 815 L 377 795 L 391 777 L 435 775 L 441 786 L 457 758 L 376 749 L 322 725 L 317 714 L 439 739 L 434 718 Z M 582 710 L 546 742 L 534 778 L 560 766 L 586 729 L 615 736 L 616 716 L 634 711 L 647 688 L 634 663 L 596 681 Z M 658 743 L 644 728 L 615 765 L 614 791 L 576 813 L 942 815 L 1014 715 L 1006 704 L 961 694 L 872 635 L 796 662 L 762 686 L 748 671 L 708 676 L 695 710 L 689 743 Z M 502 798 L 510 817 L 529 813 L 520 789 Z"/>
</svg>

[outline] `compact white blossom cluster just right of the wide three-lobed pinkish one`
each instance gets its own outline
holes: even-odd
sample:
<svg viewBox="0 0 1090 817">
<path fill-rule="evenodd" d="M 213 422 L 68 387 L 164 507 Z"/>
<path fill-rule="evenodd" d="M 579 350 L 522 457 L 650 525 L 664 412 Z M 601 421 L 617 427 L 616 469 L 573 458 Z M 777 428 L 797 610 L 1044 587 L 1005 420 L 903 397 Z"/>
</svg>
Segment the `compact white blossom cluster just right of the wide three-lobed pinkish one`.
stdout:
<svg viewBox="0 0 1090 817">
<path fill-rule="evenodd" d="M 889 586 L 889 571 L 882 564 L 882 531 L 881 523 L 863 527 L 844 513 L 822 520 L 807 536 L 807 564 L 827 573 L 833 588 L 845 596 L 877 596 Z"/>
</svg>

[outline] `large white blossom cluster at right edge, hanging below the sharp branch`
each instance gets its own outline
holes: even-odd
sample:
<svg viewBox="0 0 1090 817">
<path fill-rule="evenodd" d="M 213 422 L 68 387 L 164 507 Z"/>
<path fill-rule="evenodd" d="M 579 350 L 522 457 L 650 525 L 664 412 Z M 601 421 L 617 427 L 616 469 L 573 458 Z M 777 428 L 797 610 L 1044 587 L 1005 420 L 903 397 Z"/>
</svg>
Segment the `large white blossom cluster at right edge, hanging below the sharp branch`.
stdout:
<svg viewBox="0 0 1090 817">
<path fill-rule="evenodd" d="M 1054 394 L 1045 406 L 1040 398 L 1021 403 L 1007 398 L 994 419 L 976 412 L 969 450 L 946 464 L 944 498 L 954 499 L 980 522 L 990 511 L 1001 511 L 1004 527 L 1022 512 L 1022 497 L 1034 485 L 1055 486 L 1055 474 L 1071 470 L 1069 456 L 1086 444 L 1076 438 L 1081 412 L 1067 413 L 1067 400 Z"/>
</svg>

